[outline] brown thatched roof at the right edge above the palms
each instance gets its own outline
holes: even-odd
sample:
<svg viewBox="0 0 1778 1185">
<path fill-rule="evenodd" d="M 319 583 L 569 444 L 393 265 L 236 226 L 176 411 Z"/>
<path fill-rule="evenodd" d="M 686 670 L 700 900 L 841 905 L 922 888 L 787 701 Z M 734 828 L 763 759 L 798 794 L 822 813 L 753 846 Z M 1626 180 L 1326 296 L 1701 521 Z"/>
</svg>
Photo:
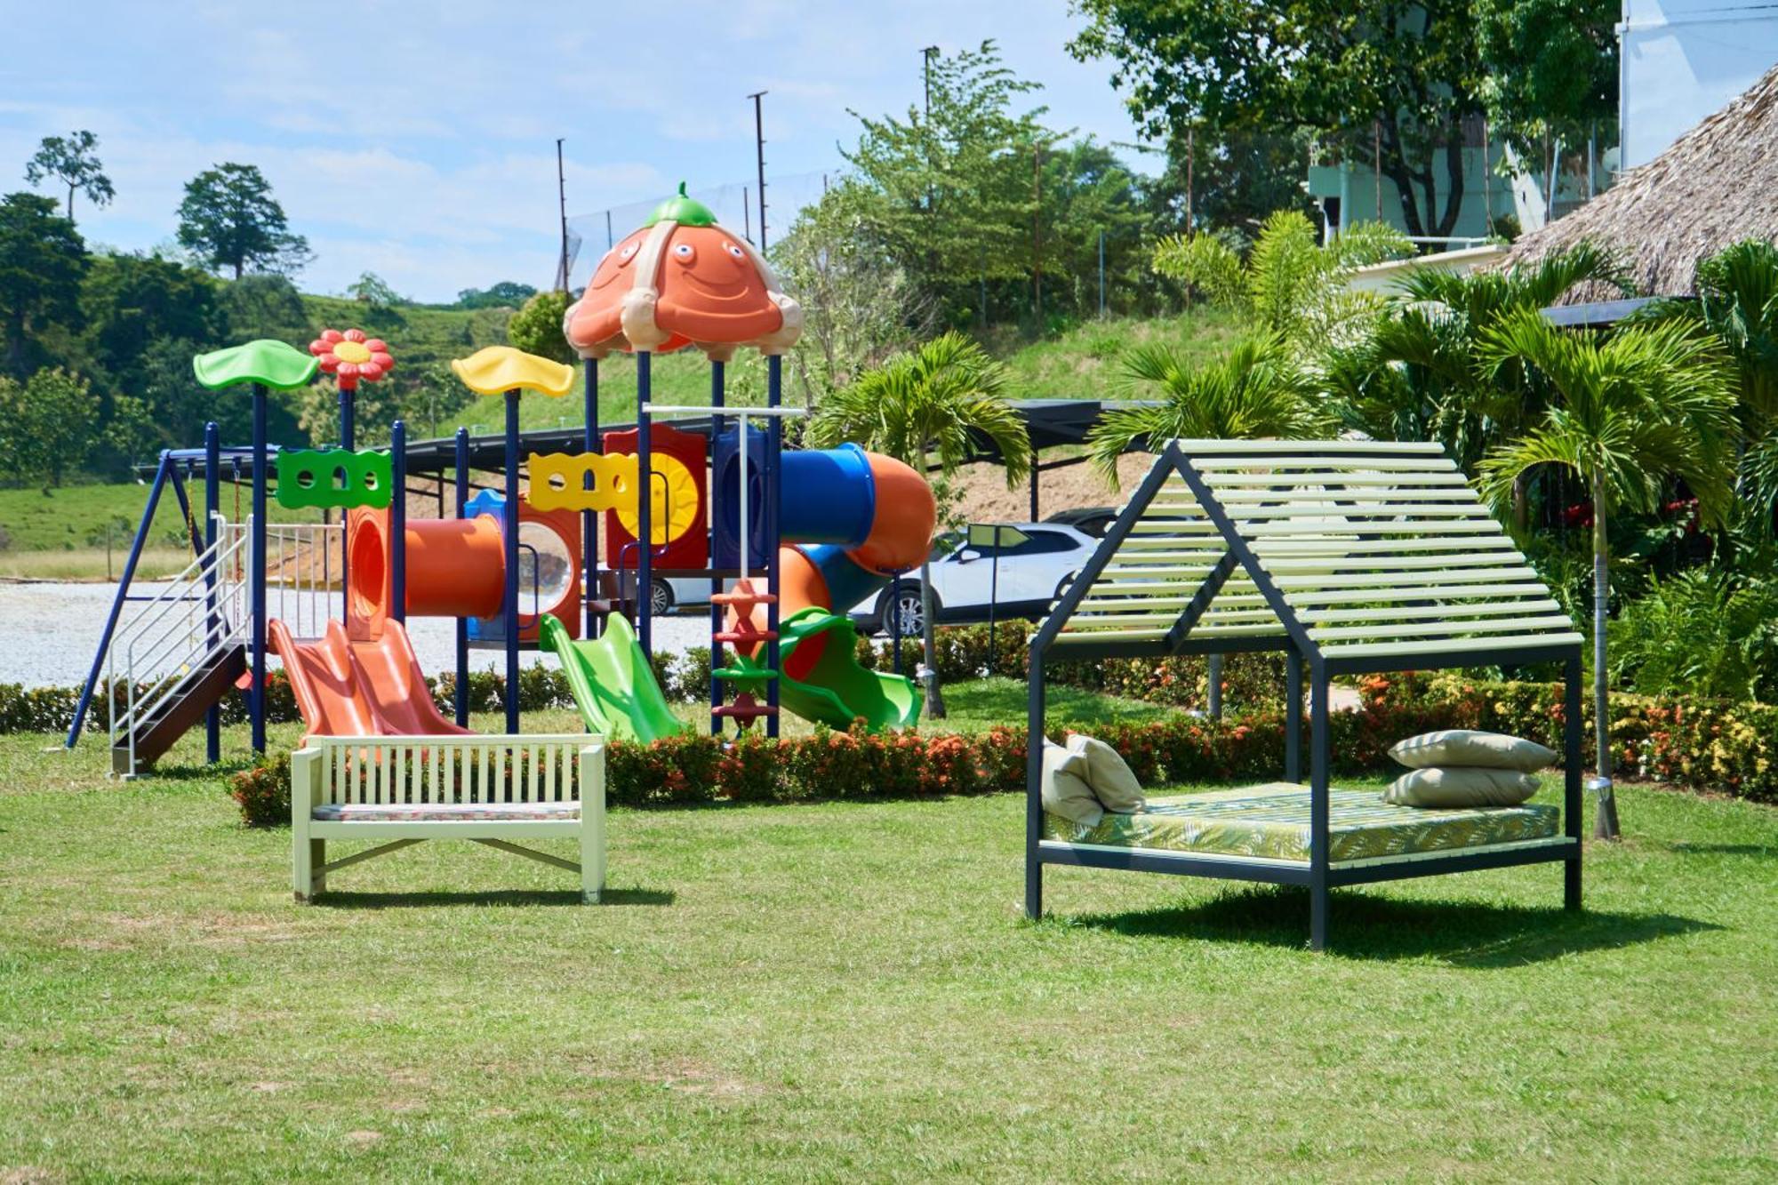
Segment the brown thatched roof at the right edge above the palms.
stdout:
<svg viewBox="0 0 1778 1185">
<path fill-rule="evenodd" d="M 1778 66 L 1568 217 L 1513 244 L 1499 267 L 1591 238 L 1652 295 L 1693 295 L 1698 260 L 1742 238 L 1778 242 Z M 1575 288 L 1565 302 L 1607 294 Z"/>
</svg>

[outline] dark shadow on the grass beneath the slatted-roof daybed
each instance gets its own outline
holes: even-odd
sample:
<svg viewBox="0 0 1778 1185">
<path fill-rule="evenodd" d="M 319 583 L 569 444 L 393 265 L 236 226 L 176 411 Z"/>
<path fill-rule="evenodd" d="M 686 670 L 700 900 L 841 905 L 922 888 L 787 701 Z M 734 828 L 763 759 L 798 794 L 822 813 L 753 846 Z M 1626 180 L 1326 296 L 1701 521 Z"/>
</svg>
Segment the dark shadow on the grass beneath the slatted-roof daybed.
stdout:
<svg viewBox="0 0 1778 1185">
<path fill-rule="evenodd" d="M 1257 886 L 1227 890 L 1195 906 L 1115 915 L 1076 915 L 1072 925 L 1136 938 L 1209 938 L 1305 947 L 1309 891 Z M 1566 954 L 1616 950 L 1723 927 L 1671 913 L 1568 913 L 1559 906 L 1492 906 L 1401 900 L 1335 891 L 1328 952 L 1348 959 L 1422 959 L 1451 966 L 1524 966 Z"/>
</svg>

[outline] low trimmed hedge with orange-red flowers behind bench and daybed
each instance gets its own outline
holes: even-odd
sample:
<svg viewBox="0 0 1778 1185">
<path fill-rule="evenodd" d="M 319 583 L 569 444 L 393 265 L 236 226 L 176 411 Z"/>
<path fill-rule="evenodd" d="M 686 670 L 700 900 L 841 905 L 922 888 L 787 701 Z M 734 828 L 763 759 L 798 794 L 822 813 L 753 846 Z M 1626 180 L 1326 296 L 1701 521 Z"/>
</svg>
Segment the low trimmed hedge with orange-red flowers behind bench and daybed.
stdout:
<svg viewBox="0 0 1778 1185">
<path fill-rule="evenodd" d="M 1625 772 L 1778 802 L 1771 738 L 1778 708 L 1766 705 L 1613 701 Z M 1390 769 L 1389 746 L 1435 728 L 1486 728 L 1561 751 L 1563 701 L 1554 683 L 1479 683 L 1453 676 L 1371 676 L 1360 706 L 1332 715 L 1335 774 Z M 1149 785 L 1277 778 L 1284 767 L 1284 713 L 1259 708 L 1223 721 L 1177 713 L 1149 724 L 1097 730 Z M 1056 737 L 1060 740 L 1060 733 Z M 814 799 L 919 799 L 1024 790 L 1024 730 L 980 735 L 834 733 L 724 744 L 708 735 L 651 746 L 612 742 L 606 794 L 621 806 L 802 802 Z M 288 758 L 236 774 L 249 826 L 290 811 Z"/>
</svg>

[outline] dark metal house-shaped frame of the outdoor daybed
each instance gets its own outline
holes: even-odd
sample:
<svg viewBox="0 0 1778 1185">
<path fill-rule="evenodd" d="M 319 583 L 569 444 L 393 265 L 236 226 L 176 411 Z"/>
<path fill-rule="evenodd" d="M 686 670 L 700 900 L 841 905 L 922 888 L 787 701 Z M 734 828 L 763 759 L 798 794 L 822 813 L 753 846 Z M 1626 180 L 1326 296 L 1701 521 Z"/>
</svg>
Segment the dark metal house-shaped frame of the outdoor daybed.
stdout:
<svg viewBox="0 0 1778 1185">
<path fill-rule="evenodd" d="M 1346 452 L 1342 455 L 1364 455 Z M 1382 448 L 1376 454 L 1385 454 Z M 1285 708 L 1285 756 L 1284 772 L 1289 781 L 1301 781 L 1301 733 L 1303 733 L 1303 667 L 1309 669 L 1309 802 L 1310 802 L 1310 845 L 1307 863 L 1262 863 L 1239 856 L 1165 852 L 1154 849 L 1108 849 L 1076 845 L 1044 838 L 1044 802 L 1042 802 L 1042 760 L 1044 760 L 1044 660 L 1051 646 L 1061 633 L 1061 626 L 1072 617 L 1081 600 L 1099 580 L 1118 546 L 1131 536 L 1131 528 L 1141 518 L 1143 509 L 1161 491 L 1172 475 L 1184 479 L 1197 496 L 1200 507 L 1221 532 L 1229 553 L 1216 564 L 1211 576 L 1198 589 L 1191 603 L 1179 614 L 1179 619 L 1166 632 L 1165 639 L 1083 641 L 1069 646 L 1069 660 L 1129 658 L 1129 657 L 1165 657 L 1165 655 L 1211 655 L 1229 651 L 1284 651 L 1287 657 L 1289 689 Z M 1193 623 L 1204 616 L 1214 600 L 1216 591 L 1234 573 L 1243 568 L 1246 576 L 1257 585 L 1266 605 L 1277 614 L 1285 630 L 1282 639 L 1223 639 L 1193 641 L 1189 637 Z M 1565 664 L 1565 754 L 1563 754 L 1563 836 L 1536 847 L 1501 847 L 1453 850 L 1449 854 L 1424 854 L 1414 859 L 1362 863 L 1348 868 L 1330 863 L 1328 852 L 1328 790 L 1330 790 L 1330 728 L 1328 728 L 1328 687 L 1334 676 L 1373 674 L 1389 671 L 1426 671 L 1446 667 L 1469 667 L 1490 664 Z M 1031 639 L 1031 674 L 1029 674 L 1029 721 L 1026 753 L 1026 872 L 1024 872 L 1024 913 L 1038 918 L 1044 913 L 1044 865 L 1076 865 L 1088 868 L 1125 868 L 1134 872 L 1165 872 L 1173 875 L 1218 877 L 1229 881 L 1259 881 L 1266 884 L 1300 884 L 1309 888 L 1309 945 L 1323 950 L 1328 941 L 1328 895 L 1334 888 L 1346 884 L 1369 884 L 1376 881 L 1401 881 L 1412 877 L 1442 875 L 1449 872 L 1472 872 L 1479 868 L 1504 868 L 1511 865 L 1533 865 L 1547 861 L 1563 863 L 1563 906 L 1581 907 L 1581 644 L 1561 642 L 1545 646 L 1506 646 L 1497 649 L 1437 649 L 1428 648 L 1414 655 L 1392 657 L 1325 657 L 1321 648 L 1310 639 L 1309 630 L 1298 621 L 1285 603 L 1284 592 L 1268 576 L 1253 550 L 1241 537 L 1218 500 L 1211 495 L 1207 482 L 1186 459 L 1179 443 L 1168 443 L 1159 461 L 1149 472 L 1143 484 L 1118 514 L 1117 523 L 1106 532 L 1104 541 L 1093 552 L 1079 578 L 1074 580 L 1060 605 L 1047 617 L 1038 633 Z"/>
</svg>

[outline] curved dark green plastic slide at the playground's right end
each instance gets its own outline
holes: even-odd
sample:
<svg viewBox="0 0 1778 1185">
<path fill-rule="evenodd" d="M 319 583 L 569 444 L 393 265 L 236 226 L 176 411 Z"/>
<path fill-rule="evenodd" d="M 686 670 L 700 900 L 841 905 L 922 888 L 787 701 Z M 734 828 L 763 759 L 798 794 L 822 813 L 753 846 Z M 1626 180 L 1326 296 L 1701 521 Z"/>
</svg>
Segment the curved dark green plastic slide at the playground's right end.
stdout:
<svg viewBox="0 0 1778 1185">
<path fill-rule="evenodd" d="M 818 646 L 811 648 L 811 641 Z M 813 662 L 804 658 L 816 648 Z M 846 616 L 800 609 L 781 621 L 779 662 L 779 705 L 805 721 L 852 728 L 862 717 L 871 730 L 882 730 L 919 719 L 923 697 L 912 680 L 859 665 L 859 630 Z M 765 665 L 745 655 L 734 655 L 733 664 L 722 674 L 733 673 L 736 681 L 757 681 Z"/>
</svg>

